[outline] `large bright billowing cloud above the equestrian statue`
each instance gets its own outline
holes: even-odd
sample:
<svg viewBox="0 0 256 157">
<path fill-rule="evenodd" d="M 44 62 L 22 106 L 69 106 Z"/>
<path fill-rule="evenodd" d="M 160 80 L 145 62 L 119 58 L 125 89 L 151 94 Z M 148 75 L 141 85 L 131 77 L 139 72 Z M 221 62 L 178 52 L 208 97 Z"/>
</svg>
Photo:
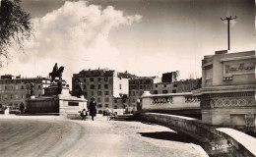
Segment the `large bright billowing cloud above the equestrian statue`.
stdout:
<svg viewBox="0 0 256 157">
<path fill-rule="evenodd" d="M 108 41 L 110 30 L 141 19 L 111 6 L 102 9 L 85 1 L 65 2 L 61 8 L 32 20 L 34 38 L 25 43 L 27 53 L 19 54 L 18 59 L 23 64 L 33 63 L 38 75 L 51 71 L 55 62 L 65 67 L 64 77 L 66 74 L 69 78 L 83 69 L 118 69 L 120 52 Z"/>
</svg>

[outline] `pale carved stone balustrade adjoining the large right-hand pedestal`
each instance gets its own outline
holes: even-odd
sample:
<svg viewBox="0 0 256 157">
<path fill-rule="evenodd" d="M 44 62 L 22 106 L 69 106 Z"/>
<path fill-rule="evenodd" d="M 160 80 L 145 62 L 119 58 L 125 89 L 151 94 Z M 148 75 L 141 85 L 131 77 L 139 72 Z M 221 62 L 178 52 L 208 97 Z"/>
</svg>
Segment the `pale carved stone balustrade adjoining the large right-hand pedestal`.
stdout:
<svg viewBox="0 0 256 157">
<path fill-rule="evenodd" d="M 151 94 L 141 96 L 143 110 L 200 109 L 200 100 L 192 92 Z"/>
</svg>

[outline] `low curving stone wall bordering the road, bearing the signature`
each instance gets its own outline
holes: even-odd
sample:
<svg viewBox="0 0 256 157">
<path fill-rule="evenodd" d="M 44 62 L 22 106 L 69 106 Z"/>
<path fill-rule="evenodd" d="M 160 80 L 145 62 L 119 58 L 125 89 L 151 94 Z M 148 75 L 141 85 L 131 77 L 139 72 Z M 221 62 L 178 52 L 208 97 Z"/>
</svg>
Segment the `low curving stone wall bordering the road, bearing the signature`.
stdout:
<svg viewBox="0 0 256 157">
<path fill-rule="evenodd" d="M 165 126 L 192 136 L 201 143 L 205 151 L 211 156 L 256 156 L 255 150 L 250 150 L 245 146 L 246 144 L 243 142 L 246 141 L 238 141 L 228 133 L 218 131 L 217 127 L 206 125 L 200 120 L 158 113 L 141 113 L 140 118 L 143 122 Z"/>
</svg>

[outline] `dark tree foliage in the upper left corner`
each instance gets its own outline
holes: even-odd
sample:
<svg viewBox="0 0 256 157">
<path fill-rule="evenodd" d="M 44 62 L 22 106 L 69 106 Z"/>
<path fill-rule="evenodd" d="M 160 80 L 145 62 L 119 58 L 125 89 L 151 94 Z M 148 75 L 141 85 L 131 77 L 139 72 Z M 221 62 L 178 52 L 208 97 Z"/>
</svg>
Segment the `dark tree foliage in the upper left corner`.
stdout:
<svg viewBox="0 0 256 157">
<path fill-rule="evenodd" d="M 32 34 L 31 15 L 21 9 L 20 1 L 0 0 L 0 58 L 7 60 L 10 59 L 8 48 L 16 43 L 23 49 L 23 41 Z"/>
</svg>

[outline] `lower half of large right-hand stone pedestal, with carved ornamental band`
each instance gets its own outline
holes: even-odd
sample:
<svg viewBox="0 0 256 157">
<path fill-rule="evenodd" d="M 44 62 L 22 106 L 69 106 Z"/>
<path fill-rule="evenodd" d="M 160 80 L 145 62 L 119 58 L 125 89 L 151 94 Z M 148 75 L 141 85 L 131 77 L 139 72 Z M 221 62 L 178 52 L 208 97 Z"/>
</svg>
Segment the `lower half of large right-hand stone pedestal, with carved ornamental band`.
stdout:
<svg viewBox="0 0 256 157">
<path fill-rule="evenodd" d="M 205 124 L 256 131 L 255 84 L 201 88 L 200 100 Z"/>
</svg>

